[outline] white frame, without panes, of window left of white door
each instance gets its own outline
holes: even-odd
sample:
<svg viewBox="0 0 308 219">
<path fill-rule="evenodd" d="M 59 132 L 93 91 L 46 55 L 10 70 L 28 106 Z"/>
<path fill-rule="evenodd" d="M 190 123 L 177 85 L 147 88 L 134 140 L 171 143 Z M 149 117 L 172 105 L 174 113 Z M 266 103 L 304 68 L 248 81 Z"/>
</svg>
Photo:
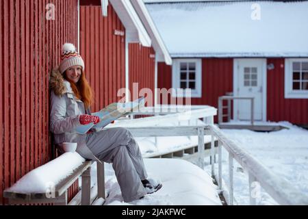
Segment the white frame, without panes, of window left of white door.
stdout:
<svg viewBox="0 0 308 219">
<path fill-rule="evenodd" d="M 184 92 L 181 89 L 181 62 L 196 63 L 196 89 L 191 92 Z M 172 61 L 172 97 L 198 97 L 202 96 L 202 60 L 201 59 L 175 59 Z M 188 95 L 188 96 L 186 96 Z"/>
</svg>

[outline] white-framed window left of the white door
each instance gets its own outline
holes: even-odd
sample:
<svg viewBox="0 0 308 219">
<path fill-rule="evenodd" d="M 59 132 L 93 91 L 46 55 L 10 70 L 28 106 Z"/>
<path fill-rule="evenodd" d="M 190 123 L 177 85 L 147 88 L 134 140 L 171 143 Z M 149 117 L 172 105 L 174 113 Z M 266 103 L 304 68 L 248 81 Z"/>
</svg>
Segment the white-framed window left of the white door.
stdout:
<svg viewBox="0 0 308 219">
<path fill-rule="evenodd" d="M 185 96 L 185 89 L 189 88 L 192 97 L 201 97 L 201 60 L 173 60 L 172 88 L 172 96 Z"/>
</svg>

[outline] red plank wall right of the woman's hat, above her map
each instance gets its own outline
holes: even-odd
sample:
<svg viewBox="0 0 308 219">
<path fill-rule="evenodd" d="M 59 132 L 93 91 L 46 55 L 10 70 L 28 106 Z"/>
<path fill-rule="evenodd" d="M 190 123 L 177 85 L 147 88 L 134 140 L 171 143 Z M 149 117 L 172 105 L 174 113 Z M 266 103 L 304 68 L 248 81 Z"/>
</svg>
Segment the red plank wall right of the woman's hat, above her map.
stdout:
<svg viewBox="0 0 308 219">
<path fill-rule="evenodd" d="M 100 6 L 80 6 L 80 53 L 85 61 L 85 73 L 94 90 L 92 112 L 119 101 L 117 92 L 125 88 L 125 32 L 112 5 L 108 16 L 101 16 Z"/>
</svg>

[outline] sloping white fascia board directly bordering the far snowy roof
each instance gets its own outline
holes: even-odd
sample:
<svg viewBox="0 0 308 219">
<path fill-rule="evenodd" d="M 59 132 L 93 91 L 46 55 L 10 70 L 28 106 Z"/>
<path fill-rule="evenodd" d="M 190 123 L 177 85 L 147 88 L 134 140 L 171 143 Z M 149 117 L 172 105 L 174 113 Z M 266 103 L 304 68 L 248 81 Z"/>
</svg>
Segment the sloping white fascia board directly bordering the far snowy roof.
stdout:
<svg viewBox="0 0 308 219">
<path fill-rule="evenodd" d="M 148 31 L 151 37 L 153 49 L 157 54 L 157 61 L 165 62 L 166 64 L 171 65 L 172 59 L 170 57 L 168 49 L 166 48 L 164 41 L 159 35 L 159 32 L 157 31 L 157 28 L 155 27 L 155 24 L 149 14 L 149 11 L 146 9 L 143 1 L 131 0 L 131 4 L 133 5 L 133 8 L 135 8 L 144 27 L 146 28 L 146 31 Z"/>
</svg>

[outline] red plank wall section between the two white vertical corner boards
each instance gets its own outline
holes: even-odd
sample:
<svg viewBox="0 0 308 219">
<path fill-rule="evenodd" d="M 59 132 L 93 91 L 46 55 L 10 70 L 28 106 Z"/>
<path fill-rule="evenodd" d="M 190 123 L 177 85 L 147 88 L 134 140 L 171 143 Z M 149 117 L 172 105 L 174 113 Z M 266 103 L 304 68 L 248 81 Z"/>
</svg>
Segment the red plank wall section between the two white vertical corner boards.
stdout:
<svg viewBox="0 0 308 219">
<path fill-rule="evenodd" d="M 152 96 L 146 98 L 146 106 L 153 106 L 155 98 L 155 51 L 152 47 L 142 47 L 138 43 L 129 44 L 129 90 L 131 92 L 131 101 L 139 97 L 138 93 L 133 94 L 133 83 L 138 83 L 137 92 L 142 92 L 143 88 L 151 90 Z"/>
</svg>

